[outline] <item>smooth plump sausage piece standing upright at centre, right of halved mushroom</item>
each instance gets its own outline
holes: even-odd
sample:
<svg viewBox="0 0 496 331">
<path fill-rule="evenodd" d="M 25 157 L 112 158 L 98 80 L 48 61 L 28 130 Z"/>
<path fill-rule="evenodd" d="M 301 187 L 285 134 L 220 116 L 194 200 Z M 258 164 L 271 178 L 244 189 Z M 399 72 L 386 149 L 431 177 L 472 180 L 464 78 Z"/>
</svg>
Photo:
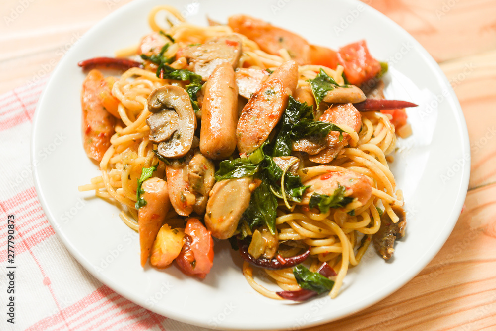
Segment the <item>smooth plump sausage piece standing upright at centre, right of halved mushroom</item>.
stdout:
<svg viewBox="0 0 496 331">
<path fill-rule="evenodd" d="M 206 84 L 201 107 L 200 151 L 210 159 L 225 159 L 236 149 L 238 124 L 238 87 L 231 64 L 219 64 Z"/>
</svg>

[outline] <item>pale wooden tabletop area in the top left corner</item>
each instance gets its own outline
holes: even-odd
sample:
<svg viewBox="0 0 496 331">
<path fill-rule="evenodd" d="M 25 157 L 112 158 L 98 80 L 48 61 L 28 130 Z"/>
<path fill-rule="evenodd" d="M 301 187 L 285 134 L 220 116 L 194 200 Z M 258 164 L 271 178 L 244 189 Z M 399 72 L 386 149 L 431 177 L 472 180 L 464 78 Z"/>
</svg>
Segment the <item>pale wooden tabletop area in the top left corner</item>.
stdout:
<svg viewBox="0 0 496 331">
<path fill-rule="evenodd" d="M 44 0 L 22 7 L 18 0 L 1 1 L 0 93 L 49 75 L 89 28 L 128 2 Z"/>
</svg>

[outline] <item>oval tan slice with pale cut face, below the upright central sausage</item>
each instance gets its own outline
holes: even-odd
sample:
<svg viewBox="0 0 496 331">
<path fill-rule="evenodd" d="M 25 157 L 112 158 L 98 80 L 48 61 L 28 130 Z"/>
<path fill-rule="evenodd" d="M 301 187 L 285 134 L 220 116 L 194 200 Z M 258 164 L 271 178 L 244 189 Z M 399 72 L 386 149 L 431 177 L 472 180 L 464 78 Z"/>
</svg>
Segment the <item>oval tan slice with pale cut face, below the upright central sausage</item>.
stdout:
<svg viewBox="0 0 496 331">
<path fill-rule="evenodd" d="M 205 225 L 212 236 L 233 236 L 251 197 L 251 177 L 221 180 L 215 183 L 207 203 Z"/>
</svg>

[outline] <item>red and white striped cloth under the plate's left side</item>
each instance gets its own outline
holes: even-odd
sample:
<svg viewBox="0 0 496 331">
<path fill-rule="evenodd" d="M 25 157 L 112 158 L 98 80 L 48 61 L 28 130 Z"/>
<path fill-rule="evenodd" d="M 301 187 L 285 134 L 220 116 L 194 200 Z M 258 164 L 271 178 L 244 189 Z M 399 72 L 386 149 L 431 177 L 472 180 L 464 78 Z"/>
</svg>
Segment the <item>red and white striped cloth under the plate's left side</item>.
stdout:
<svg viewBox="0 0 496 331">
<path fill-rule="evenodd" d="M 91 276 L 64 248 L 38 201 L 30 164 L 46 80 L 0 96 L 0 330 L 204 330 L 152 313 Z M 15 294 L 7 294 L 7 216 L 15 216 Z M 15 296 L 15 324 L 6 302 Z"/>
</svg>

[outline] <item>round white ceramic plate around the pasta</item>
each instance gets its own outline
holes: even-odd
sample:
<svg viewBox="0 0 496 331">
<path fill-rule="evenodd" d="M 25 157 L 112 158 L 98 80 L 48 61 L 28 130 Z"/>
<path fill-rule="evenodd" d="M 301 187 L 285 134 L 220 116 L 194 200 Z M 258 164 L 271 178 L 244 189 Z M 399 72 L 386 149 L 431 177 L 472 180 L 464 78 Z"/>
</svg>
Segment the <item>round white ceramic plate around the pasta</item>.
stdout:
<svg viewBox="0 0 496 331">
<path fill-rule="evenodd" d="M 241 273 L 241 259 L 216 243 L 212 272 L 199 281 L 176 268 L 142 269 L 137 234 L 119 209 L 77 186 L 98 175 L 80 134 L 79 93 L 84 74 L 77 62 L 137 43 L 149 31 L 147 14 L 173 3 L 192 23 L 206 15 L 225 22 L 246 13 L 286 27 L 311 43 L 332 47 L 366 39 L 373 56 L 387 60 L 386 97 L 413 101 L 413 136 L 400 141 L 392 170 L 403 189 L 408 229 L 385 262 L 372 250 L 350 270 L 339 296 L 295 304 L 267 299 Z M 62 142 L 54 145 L 57 135 Z M 44 157 L 42 158 L 41 155 Z M 339 319 L 372 305 L 417 275 L 439 251 L 462 208 L 469 178 L 469 140 L 463 114 L 433 58 L 403 29 L 358 1 L 137 0 L 91 29 L 63 58 L 35 115 L 31 156 L 36 189 L 57 234 L 74 257 L 103 283 L 156 313 L 205 327 L 281 329 Z M 68 280 L 70 281 L 70 280 Z"/>
</svg>

